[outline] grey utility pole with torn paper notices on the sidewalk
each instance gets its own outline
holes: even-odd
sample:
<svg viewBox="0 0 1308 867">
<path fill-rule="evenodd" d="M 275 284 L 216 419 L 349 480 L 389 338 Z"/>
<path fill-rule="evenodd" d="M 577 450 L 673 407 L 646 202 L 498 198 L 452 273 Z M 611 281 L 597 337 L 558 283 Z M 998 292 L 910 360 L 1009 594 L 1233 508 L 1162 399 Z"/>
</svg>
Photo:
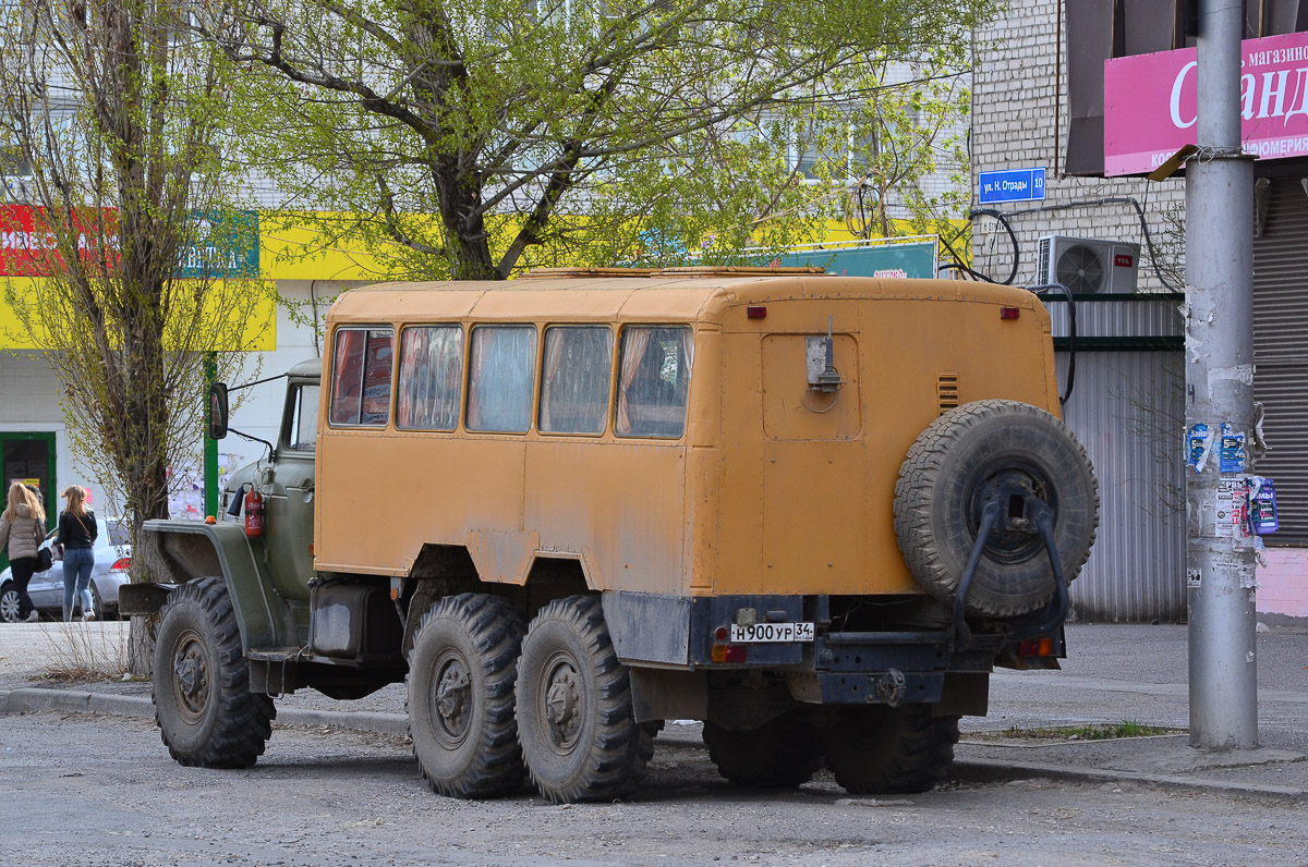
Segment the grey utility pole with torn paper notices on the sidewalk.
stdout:
<svg viewBox="0 0 1308 867">
<path fill-rule="evenodd" d="M 1185 425 L 1198 468 L 1188 469 L 1185 492 L 1190 745 L 1253 749 L 1254 551 L 1231 519 L 1253 472 L 1254 432 L 1253 160 L 1240 152 L 1244 4 L 1198 0 L 1198 10 L 1199 150 L 1185 177 Z M 1224 439 L 1223 424 L 1243 442 Z"/>
</svg>

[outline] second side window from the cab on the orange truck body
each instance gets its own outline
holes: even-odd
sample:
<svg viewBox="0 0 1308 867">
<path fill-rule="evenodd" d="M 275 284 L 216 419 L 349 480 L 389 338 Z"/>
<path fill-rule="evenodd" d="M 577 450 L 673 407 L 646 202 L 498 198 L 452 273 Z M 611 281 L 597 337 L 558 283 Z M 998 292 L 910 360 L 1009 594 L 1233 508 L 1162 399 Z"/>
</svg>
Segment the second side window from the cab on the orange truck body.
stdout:
<svg viewBox="0 0 1308 867">
<path fill-rule="evenodd" d="M 422 326 L 400 332 L 395 426 L 454 430 L 463 396 L 463 328 Z"/>
</svg>

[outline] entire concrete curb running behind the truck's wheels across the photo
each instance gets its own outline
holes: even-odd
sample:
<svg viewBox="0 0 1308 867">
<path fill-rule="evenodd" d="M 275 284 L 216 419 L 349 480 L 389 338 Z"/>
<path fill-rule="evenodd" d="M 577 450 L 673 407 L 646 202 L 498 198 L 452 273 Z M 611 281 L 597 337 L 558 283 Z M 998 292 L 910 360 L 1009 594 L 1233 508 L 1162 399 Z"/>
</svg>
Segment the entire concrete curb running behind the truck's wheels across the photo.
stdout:
<svg viewBox="0 0 1308 867">
<path fill-rule="evenodd" d="M 41 711 L 110 714 L 154 721 L 154 702 L 144 696 L 105 696 L 39 688 L 0 692 L 0 715 Z M 276 722 L 286 726 L 348 728 L 400 738 L 408 736 L 408 719 L 403 714 L 286 707 L 277 711 Z M 697 739 L 693 744 L 689 739 L 670 738 L 667 740 L 675 741 L 680 747 L 700 745 Z M 1135 783 L 1168 791 L 1227 795 L 1270 804 L 1308 804 L 1308 791 L 1292 786 L 1261 786 L 1168 774 L 1142 774 L 1130 770 L 999 761 L 997 758 L 956 758 L 950 769 L 950 779 L 964 782 L 1007 782 L 1032 777 L 1079 783 Z"/>
</svg>

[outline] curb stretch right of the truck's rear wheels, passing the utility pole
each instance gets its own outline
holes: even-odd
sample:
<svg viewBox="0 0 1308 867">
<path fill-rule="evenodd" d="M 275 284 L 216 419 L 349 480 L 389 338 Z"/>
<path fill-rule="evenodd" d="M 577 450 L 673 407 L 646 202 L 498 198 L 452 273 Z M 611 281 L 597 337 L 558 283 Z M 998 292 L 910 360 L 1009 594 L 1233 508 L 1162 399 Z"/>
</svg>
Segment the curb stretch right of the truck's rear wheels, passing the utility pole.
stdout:
<svg viewBox="0 0 1308 867">
<path fill-rule="evenodd" d="M 1031 777 L 1080 783 L 1138 783 L 1151 789 L 1196 795 L 1228 795 L 1273 804 L 1308 804 L 1308 791 L 1292 786 L 1261 786 L 1223 779 L 1142 774 L 1133 770 L 1104 770 L 1100 768 L 1069 768 L 1067 765 L 999 761 L 997 758 L 955 760 L 950 766 L 950 778 L 965 782 L 989 783 Z"/>
</svg>

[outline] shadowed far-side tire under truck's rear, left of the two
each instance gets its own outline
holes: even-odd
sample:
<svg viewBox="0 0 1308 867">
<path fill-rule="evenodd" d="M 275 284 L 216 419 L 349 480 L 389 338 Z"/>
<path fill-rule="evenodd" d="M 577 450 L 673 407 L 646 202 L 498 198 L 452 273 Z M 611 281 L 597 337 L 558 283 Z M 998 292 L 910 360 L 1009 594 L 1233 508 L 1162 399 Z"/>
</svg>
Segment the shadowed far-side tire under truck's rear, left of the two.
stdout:
<svg viewBox="0 0 1308 867">
<path fill-rule="evenodd" d="M 793 717 L 751 731 L 705 722 L 704 743 L 718 773 L 736 786 L 795 789 L 821 769 L 821 743 L 814 727 Z"/>
</svg>

